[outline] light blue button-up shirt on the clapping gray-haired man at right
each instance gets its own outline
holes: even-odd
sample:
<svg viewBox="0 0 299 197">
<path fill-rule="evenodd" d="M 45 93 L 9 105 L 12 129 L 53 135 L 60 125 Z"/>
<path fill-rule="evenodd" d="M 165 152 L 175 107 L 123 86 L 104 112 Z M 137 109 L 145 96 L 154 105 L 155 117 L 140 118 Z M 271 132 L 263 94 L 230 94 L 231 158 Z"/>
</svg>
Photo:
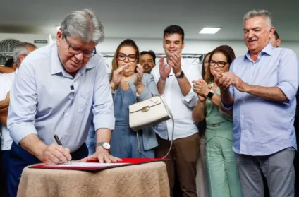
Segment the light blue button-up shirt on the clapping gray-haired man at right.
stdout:
<svg viewBox="0 0 299 197">
<path fill-rule="evenodd" d="M 230 71 L 250 85 L 279 87 L 290 100 L 266 100 L 239 92 L 231 85 L 233 150 L 245 155 L 270 155 L 284 148 L 297 148 L 293 126 L 298 88 L 295 52 L 268 44 L 257 61 L 252 61 L 248 52 L 233 61 Z"/>
</svg>

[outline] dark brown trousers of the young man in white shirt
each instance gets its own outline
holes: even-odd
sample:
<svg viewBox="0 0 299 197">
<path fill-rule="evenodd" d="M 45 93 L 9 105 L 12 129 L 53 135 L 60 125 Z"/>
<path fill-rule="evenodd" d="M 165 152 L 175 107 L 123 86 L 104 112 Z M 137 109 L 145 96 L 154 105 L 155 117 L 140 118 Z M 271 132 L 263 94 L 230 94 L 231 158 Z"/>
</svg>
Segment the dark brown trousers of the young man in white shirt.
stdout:
<svg viewBox="0 0 299 197">
<path fill-rule="evenodd" d="M 169 150 L 171 141 L 164 140 L 157 136 L 159 146 L 156 148 L 156 157 L 164 157 Z M 186 138 L 179 138 L 173 141 L 171 152 L 166 161 L 169 177 L 170 194 L 173 196 L 175 179 L 181 187 L 183 196 L 195 196 L 196 192 L 196 162 L 200 155 L 200 135 L 195 133 Z"/>
</svg>

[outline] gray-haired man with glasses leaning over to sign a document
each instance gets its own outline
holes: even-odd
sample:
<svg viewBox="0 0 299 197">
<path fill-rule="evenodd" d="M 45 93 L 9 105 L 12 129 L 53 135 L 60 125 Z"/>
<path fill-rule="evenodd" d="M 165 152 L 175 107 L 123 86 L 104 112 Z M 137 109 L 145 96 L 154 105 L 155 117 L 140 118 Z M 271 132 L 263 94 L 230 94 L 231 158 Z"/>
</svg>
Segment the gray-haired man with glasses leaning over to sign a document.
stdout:
<svg viewBox="0 0 299 197">
<path fill-rule="evenodd" d="M 114 109 L 103 57 L 96 45 L 104 27 L 90 10 L 64 18 L 56 43 L 39 48 L 22 62 L 11 89 L 9 196 L 17 196 L 24 167 L 39 162 L 116 162 L 109 154 Z M 96 151 L 87 157 L 85 144 L 93 117 Z M 58 145 L 54 135 L 63 145 Z"/>
</svg>

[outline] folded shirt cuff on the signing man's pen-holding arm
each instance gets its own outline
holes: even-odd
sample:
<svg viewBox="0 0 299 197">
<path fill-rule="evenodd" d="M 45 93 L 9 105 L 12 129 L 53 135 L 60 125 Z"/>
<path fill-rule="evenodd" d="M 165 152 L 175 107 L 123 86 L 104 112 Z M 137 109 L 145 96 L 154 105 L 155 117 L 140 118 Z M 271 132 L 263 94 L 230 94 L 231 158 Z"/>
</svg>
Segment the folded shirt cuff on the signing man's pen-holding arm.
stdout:
<svg viewBox="0 0 299 197">
<path fill-rule="evenodd" d="M 20 141 L 26 136 L 29 136 L 31 134 L 37 135 L 37 130 L 35 129 L 35 126 L 30 124 L 16 123 L 13 124 L 13 126 L 10 126 L 8 129 L 9 131 L 11 131 L 11 138 L 13 138 L 13 141 L 16 144 L 19 144 Z"/>
</svg>

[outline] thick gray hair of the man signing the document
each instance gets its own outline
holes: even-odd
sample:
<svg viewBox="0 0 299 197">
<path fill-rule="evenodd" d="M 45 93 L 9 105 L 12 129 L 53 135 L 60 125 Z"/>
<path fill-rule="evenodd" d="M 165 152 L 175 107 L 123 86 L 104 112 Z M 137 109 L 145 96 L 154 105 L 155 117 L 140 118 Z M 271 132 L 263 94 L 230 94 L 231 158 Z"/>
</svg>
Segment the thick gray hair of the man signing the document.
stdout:
<svg viewBox="0 0 299 197">
<path fill-rule="evenodd" d="M 104 40 L 104 26 L 88 9 L 73 11 L 61 22 L 60 30 L 65 36 L 75 36 L 83 42 Z"/>
</svg>

